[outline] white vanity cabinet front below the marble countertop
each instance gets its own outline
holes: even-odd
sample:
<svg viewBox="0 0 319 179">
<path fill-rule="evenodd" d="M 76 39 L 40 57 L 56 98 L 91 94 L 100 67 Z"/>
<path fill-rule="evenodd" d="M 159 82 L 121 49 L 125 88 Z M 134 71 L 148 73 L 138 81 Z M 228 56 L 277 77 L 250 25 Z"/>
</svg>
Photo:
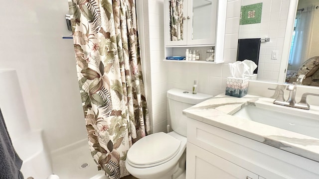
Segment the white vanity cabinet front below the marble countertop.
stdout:
<svg viewBox="0 0 319 179">
<path fill-rule="evenodd" d="M 319 179 L 316 161 L 191 118 L 186 179 Z"/>
</svg>

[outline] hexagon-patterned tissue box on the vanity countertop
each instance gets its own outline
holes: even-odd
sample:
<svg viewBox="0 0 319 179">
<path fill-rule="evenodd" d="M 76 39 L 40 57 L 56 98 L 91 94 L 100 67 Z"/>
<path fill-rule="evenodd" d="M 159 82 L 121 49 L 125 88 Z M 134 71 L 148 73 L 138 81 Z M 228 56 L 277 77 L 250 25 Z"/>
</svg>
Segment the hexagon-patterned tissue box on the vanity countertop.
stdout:
<svg viewBox="0 0 319 179">
<path fill-rule="evenodd" d="M 226 95 L 243 97 L 247 94 L 249 78 L 228 77 L 226 82 Z"/>
</svg>

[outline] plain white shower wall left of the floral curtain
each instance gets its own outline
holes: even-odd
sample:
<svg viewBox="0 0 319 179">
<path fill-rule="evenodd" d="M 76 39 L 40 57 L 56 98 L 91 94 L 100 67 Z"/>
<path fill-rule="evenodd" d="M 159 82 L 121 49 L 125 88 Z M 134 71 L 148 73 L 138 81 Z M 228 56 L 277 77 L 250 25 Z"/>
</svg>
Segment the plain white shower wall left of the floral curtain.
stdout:
<svg viewBox="0 0 319 179">
<path fill-rule="evenodd" d="M 8 0 L 0 11 L 0 69 L 16 69 L 31 129 L 44 129 L 51 151 L 85 139 L 73 42 L 61 38 L 67 0 Z"/>
</svg>

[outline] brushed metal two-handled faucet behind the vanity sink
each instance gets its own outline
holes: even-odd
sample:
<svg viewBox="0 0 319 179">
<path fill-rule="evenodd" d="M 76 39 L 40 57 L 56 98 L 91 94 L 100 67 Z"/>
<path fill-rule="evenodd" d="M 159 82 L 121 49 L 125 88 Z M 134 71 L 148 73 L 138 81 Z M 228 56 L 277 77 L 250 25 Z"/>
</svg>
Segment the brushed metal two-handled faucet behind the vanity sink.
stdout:
<svg viewBox="0 0 319 179">
<path fill-rule="evenodd" d="M 310 105 L 308 104 L 307 102 L 307 96 L 308 95 L 315 95 L 315 96 L 319 96 L 319 94 L 314 94 L 314 93 L 304 93 L 302 95 L 302 98 L 301 100 L 296 103 L 296 90 L 297 90 L 297 84 L 302 84 L 304 78 L 306 76 L 305 75 L 300 75 L 298 80 L 297 80 L 297 83 L 293 83 L 293 84 L 290 84 L 287 86 L 287 90 L 289 90 L 289 97 L 287 100 L 285 100 L 284 98 L 284 91 L 282 89 L 273 89 L 273 88 L 268 88 L 268 89 L 271 89 L 271 90 L 276 90 L 279 92 L 278 96 L 277 96 L 277 99 L 274 100 L 274 104 L 279 104 L 279 105 L 284 105 L 284 106 L 289 106 L 289 107 L 296 107 L 296 108 L 299 108 L 299 109 L 307 109 L 309 110 L 310 109 Z"/>
</svg>

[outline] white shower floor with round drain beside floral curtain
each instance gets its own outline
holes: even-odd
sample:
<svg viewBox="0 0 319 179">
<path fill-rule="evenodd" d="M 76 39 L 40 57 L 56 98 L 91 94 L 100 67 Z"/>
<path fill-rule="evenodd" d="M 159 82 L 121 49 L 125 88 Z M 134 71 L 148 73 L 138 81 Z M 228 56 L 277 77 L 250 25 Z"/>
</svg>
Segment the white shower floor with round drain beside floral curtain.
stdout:
<svg viewBox="0 0 319 179">
<path fill-rule="evenodd" d="M 52 171 L 60 179 L 108 179 L 97 170 L 86 140 L 53 152 Z"/>
</svg>

